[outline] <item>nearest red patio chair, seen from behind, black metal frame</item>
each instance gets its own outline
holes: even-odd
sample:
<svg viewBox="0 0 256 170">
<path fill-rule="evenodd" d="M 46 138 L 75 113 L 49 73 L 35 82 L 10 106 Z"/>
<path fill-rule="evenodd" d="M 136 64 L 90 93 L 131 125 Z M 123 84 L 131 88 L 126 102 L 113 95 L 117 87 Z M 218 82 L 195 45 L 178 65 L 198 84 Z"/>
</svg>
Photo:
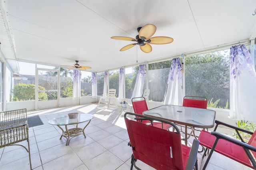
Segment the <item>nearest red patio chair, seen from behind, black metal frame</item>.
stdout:
<svg viewBox="0 0 256 170">
<path fill-rule="evenodd" d="M 130 170 L 132 170 L 133 166 L 136 169 L 140 169 L 135 164 L 137 160 L 141 160 L 157 170 L 193 170 L 194 167 L 196 170 L 198 169 L 198 140 L 194 139 L 190 148 L 181 143 L 180 131 L 174 123 L 152 118 L 152 120 L 173 126 L 176 130 L 175 132 L 133 121 L 128 119 L 127 115 L 135 115 L 144 119 L 151 118 L 130 112 L 124 114 L 130 138 L 128 145 L 132 147 L 133 152 Z"/>
</svg>

